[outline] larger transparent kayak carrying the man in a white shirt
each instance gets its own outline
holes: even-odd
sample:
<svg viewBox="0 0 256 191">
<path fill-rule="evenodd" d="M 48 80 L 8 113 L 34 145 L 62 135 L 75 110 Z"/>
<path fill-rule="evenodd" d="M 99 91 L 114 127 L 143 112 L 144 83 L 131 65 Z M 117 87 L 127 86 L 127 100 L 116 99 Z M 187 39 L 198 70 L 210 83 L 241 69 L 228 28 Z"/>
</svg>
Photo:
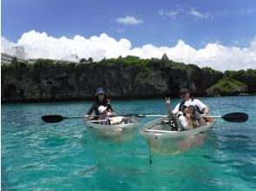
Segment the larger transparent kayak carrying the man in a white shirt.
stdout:
<svg viewBox="0 0 256 191">
<path fill-rule="evenodd" d="M 179 155 L 202 145 L 212 132 L 215 120 L 204 126 L 185 131 L 171 131 L 168 118 L 158 118 L 139 130 L 152 152 L 161 155 Z"/>
</svg>

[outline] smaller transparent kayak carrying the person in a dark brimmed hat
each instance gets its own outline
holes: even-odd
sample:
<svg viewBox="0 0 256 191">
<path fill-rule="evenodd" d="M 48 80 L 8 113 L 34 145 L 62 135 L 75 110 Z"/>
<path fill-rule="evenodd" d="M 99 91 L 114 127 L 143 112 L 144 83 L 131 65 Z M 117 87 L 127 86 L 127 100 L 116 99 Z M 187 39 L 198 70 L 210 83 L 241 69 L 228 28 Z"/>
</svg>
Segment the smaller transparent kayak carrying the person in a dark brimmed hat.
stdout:
<svg viewBox="0 0 256 191">
<path fill-rule="evenodd" d="M 84 120 L 87 130 L 99 140 L 120 144 L 129 142 L 134 137 L 139 126 L 136 117 L 129 117 L 128 120 L 115 125 L 103 125 L 98 122 L 90 122 Z"/>
</svg>

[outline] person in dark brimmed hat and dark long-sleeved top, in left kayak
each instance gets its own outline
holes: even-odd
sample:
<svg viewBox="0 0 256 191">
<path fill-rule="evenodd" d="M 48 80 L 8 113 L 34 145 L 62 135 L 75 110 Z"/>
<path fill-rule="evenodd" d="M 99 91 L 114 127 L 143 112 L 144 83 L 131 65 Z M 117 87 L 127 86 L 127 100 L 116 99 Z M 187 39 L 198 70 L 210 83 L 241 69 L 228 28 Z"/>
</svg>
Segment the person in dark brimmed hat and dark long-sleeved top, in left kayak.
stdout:
<svg viewBox="0 0 256 191">
<path fill-rule="evenodd" d="M 92 103 L 91 108 L 87 111 L 86 115 L 84 117 L 88 118 L 91 113 L 94 111 L 95 115 L 99 115 L 98 107 L 104 106 L 106 107 L 108 112 L 111 112 L 112 115 L 114 115 L 114 110 L 111 107 L 111 99 L 108 98 L 108 96 L 105 94 L 103 88 L 98 88 L 96 91 L 95 101 Z M 95 119 L 98 119 L 98 117 L 95 117 Z"/>
</svg>

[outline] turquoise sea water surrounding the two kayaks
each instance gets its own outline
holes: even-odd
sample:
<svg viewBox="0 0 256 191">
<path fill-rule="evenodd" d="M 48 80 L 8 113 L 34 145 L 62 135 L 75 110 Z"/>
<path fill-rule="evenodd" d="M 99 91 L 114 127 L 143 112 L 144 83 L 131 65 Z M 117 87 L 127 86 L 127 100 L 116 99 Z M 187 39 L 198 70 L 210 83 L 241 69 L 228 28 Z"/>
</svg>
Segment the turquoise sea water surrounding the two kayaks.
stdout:
<svg viewBox="0 0 256 191">
<path fill-rule="evenodd" d="M 256 190 L 256 96 L 199 99 L 211 115 L 241 111 L 249 120 L 218 119 L 203 146 L 176 156 L 152 154 L 151 168 L 138 132 L 131 142 L 112 145 L 86 132 L 82 119 L 41 120 L 83 116 L 91 102 L 3 104 L 2 190 Z M 111 103 L 118 114 L 167 114 L 164 99 Z"/>
</svg>

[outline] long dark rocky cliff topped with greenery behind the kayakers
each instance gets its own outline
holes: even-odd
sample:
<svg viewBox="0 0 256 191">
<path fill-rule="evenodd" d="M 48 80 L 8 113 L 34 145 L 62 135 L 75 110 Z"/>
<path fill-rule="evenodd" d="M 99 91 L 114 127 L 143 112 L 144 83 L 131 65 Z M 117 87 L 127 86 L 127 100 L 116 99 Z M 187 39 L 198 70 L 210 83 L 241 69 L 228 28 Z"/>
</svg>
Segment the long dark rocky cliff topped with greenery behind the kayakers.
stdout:
<svg viewBox="0 0 256 191">
<path fill-rule="evenodd" d="M 219 82 L 223 73 L 196 65 L 142 60 L 136 57 L 109 59 L 100 63 L 11 63 L 2 66 L 2 102 L 84 100 L 98 87 L 112 98 L 177 96 L 189 87 L 193 95 Z"/>
</svg>

